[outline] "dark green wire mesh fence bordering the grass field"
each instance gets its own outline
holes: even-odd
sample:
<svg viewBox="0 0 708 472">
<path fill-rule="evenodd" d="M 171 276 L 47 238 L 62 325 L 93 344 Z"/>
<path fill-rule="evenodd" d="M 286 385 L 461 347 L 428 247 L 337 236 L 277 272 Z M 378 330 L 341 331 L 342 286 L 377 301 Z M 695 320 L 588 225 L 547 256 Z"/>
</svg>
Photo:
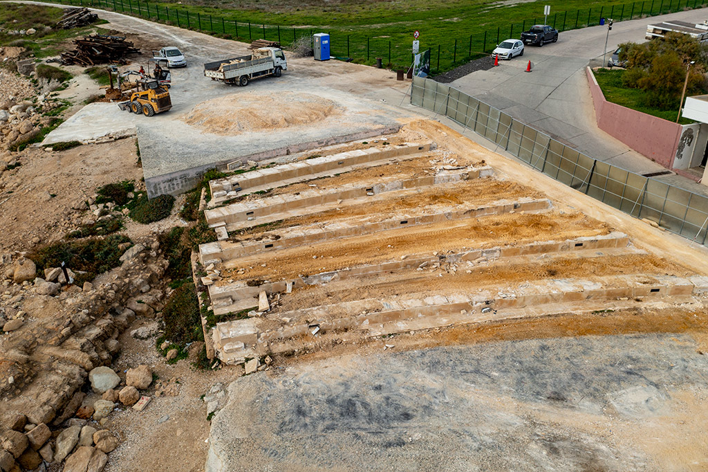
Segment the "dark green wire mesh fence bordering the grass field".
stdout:
<svg viewBox="0 0 708 472">
<path fill-rule="evenodd" d="M 549 16 L 548 23 L 559 31 L 566 31 L 596 26 L 600 24 L 601 18 L 613 18 L 615 22 L 627 21 L 644 16 L 696 9 L 705 6 L 703 2 L 704 0 L 634 1 L 590 9 L 560 11 Z M 118 11 L 181 28 L 199 30 L 213 35 L 224 35 L 243 41 L 256 39 L 278 41 L 283 47 L 292 45 L 302 36 L 312 36 L 312 33 L 329 33 L 331 55 L 335 57 L 351 57 L 356 62 L 363 64 L 374 64 L 376 58 L 380 57 L 390 69 L 404 69 L 411 65 L 411 45 L 408 38 L 412 31 L 406 34 L 406 40 L 377 38 L 375 35 L 350 35 L 338 30 L 323 31 L 297 26 L 255 24 L 227 19 L 222 16 L 190 13 L 185 9 L 169 8 L 139 0 L 60 0 L 52 3 Z M 421 40 L 420 46 L 421 50 L 430 49 L 430 67 L 433 69 L 432 72 L 437 74 L 488 54 L 501 40 L 519 38 L 523 30 L 534 24 L 542 23 L 543 19 L 542 16 L 527 18 L 520 23 L 507 23 L 503 26 L 476 31 L 472 35 L 450 38 L 445 43 L 426 43 Z"/>
</svg>

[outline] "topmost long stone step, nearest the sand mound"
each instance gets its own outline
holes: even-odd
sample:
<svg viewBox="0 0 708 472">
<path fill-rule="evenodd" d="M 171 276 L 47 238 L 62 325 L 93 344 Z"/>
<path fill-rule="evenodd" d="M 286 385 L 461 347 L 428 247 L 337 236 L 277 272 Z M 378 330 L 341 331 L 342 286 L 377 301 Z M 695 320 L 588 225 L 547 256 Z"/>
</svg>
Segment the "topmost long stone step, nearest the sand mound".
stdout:
<svg viewBox="0 0 708 472">
<path fill-rule="evenodd" d="M 405 143 L 385 148 L 370 147 L 215 179 L 209 182 L 212 194 L 209 208 L 220 206 L 230 198 L 247 193 L 333 176 L 362 167 L 378 166 L 394 159 L 420 157 L 422 153 L 430 151 L 431 147 L 434 147 L 432 142 Z"/>
</svg>

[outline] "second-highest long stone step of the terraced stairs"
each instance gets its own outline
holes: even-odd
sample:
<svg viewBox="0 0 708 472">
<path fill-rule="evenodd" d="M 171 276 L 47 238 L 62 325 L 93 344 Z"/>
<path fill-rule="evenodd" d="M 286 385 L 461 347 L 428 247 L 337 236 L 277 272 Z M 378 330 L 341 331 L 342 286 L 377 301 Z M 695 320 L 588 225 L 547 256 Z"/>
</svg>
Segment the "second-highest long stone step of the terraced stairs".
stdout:
<svg viewBox="0 0 708 472">
<path fill-rule="evenodd" d="M 411 179 L 381 182 L 354 182 L 336 189 L 311 189 L 295 194 L 282 194 L 253 201 L 205 210 L 204 215 L 210 227 L 226 226 L 227 231 L 244 227 L 272 223 L 273 221 L 311 215 L 322 211 L 355 205 L 365 201 L 389 198 L 401 191 L 411 191 L 429 186 L 450 184 L 469 179 L 479 179 L 493 175 L 491 167 L 467 167 L 438 174 Z"/>
</svg>

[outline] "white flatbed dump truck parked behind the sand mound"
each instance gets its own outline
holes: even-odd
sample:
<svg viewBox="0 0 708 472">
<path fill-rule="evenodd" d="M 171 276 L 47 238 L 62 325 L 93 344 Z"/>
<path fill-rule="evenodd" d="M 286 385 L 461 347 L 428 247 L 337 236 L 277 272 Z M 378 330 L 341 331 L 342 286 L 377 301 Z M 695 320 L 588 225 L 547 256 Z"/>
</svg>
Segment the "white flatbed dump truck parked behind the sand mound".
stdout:
<svg viewBox="0 0 708 472">
<path fill-rule="evenodd" d="M 212 80 L 245 87 L 249 80 L 274 75 L 287 70 L 285 54 L 279 47 L 260 47 L 253 55 L 232 57 L 204 64 L 204 75 Z"/>
</svg>

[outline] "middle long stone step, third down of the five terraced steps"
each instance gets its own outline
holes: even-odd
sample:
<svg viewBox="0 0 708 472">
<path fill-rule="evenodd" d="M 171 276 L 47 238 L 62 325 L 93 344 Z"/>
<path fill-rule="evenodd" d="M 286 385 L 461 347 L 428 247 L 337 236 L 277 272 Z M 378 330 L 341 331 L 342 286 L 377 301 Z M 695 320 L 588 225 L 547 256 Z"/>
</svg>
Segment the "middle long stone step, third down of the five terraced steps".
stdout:
<svg viewBox="0 0 708 472">
<path fill-rule="evenodd" d="M 396 215 L 395 218 L 378 220 L 375 223 L 340 223 L 338 221 L 311 227 L 290 227 L 278 231 L 278 238 L 268 237 L 264 233 L 259 240 L 245 240 L 239 242 L 217 241 L 208 242 L 199 246 L 202 264 L 229 262 L 239 257 L 248 257 L 263 252 L 272 252 L 279 249 L 310 245 L 316 242 L 331 241 L 343 237 L 370 235 L 377 232 L 398 230 L 401 227 L 417 227 L 430 225 L 442 221 L 454 221 L 468 218 L 483 218 L 490 215 L 501 215 L 509 212 L 537 213 L 549 210 L 551 202 L 547 199 L 535 200 L 532 198 L 519 198 L 515 201 L 498 201 L 485 206 L 457 206 L 454 210 L 438 210 L 435 213 L 416 215 L 413 212 Z M 425 212 L 418 208 L 416 212 Z"/>
</svg>

